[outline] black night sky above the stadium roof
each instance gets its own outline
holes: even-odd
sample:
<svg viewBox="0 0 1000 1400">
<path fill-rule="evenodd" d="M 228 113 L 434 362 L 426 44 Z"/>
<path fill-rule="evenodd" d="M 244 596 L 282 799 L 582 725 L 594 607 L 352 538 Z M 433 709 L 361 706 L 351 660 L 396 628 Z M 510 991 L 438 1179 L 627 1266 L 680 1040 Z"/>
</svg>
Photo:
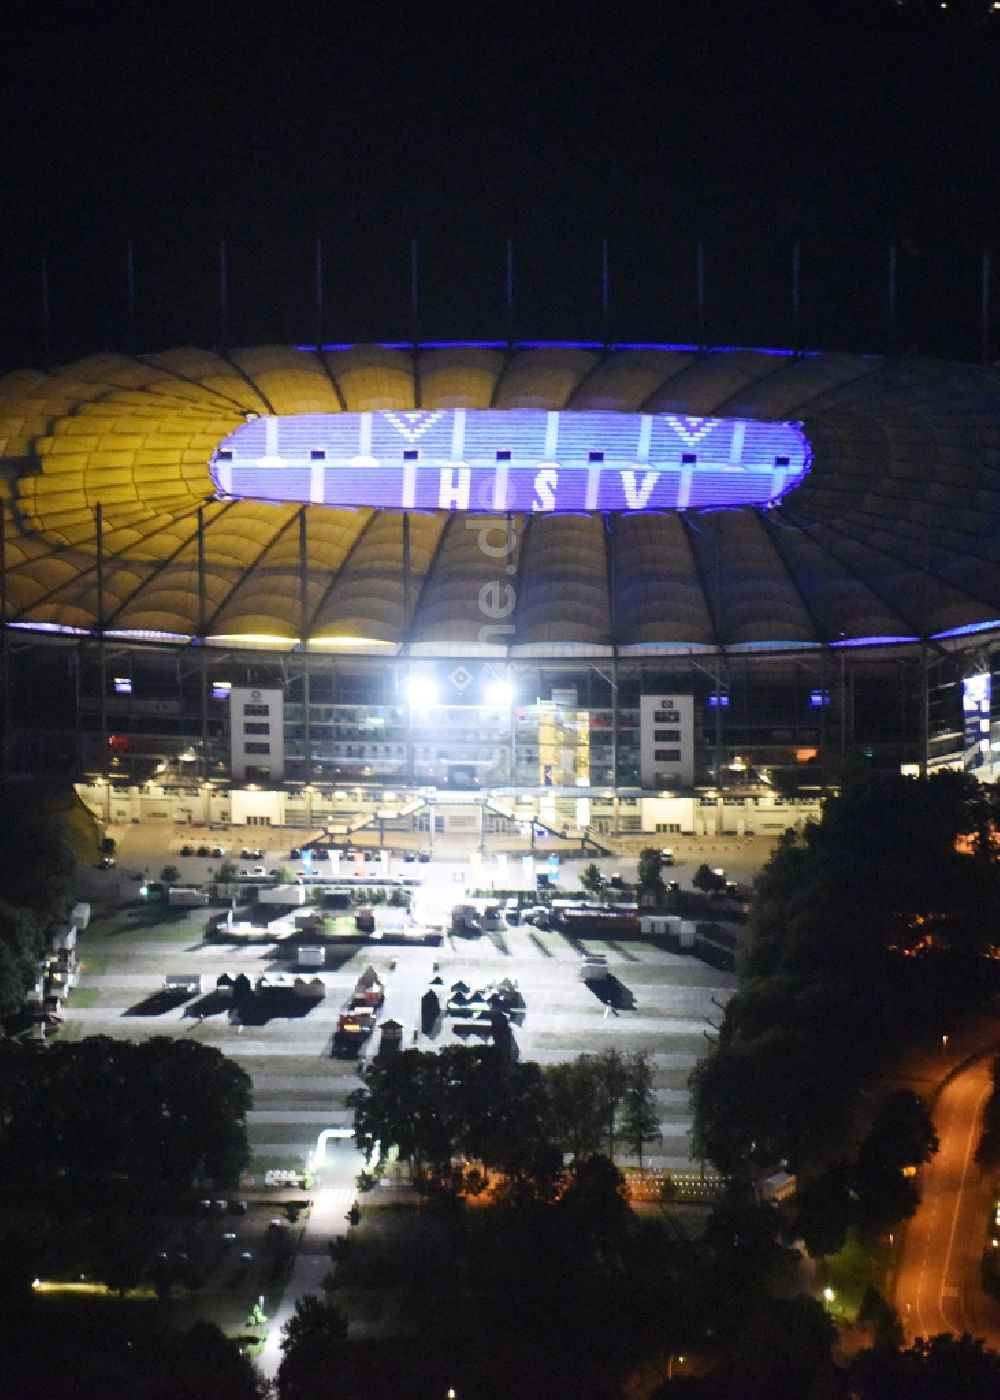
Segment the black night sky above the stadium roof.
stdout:
<svg viewBox="0 0 1000 1400">
<path fill-rule="evenodd" d="M 796 239 L 807 330 L 868 333 L 889 241 L 915 323 L 929 277 L 975 319 L 999 60 L 983 0 L 52 7 L 3 57 L 4 339 L 36 353 L 45 249 L 50 339 L 113 342 L 126 237 L 144 343 L 211 339 L 220 234 L 245 337 L 312 335 L 318 232 L 335 339 L 409 333 L 413 235 L 423 335 L 503 333 L 507 235 L 539 336 L 599 335 L 602 237 L 625 336 L 690 315 L 699 238 L 723 335 Z"/>
</svg>

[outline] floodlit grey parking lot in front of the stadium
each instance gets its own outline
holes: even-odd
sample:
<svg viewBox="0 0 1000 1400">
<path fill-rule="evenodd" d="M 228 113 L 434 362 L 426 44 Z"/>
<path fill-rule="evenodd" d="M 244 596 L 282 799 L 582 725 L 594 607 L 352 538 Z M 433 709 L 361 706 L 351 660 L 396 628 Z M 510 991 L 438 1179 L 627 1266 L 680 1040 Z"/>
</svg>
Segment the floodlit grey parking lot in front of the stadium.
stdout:
<svg viewBox="0 0 1000 1400">
<path fill-rule="evenodd" d="M 238 839 L 227 833 L 206 833 L 204 840 L 223 844 L 225 857 L 241 860 L 245 832 Z M 189 837 L 186 839 L 189 840 Z M 262 841 L 261 864 L 270 869 L 287 864 L 290 833 L 254 833 L 248 848 Z M 294 840 L 294 836 L 291 837 Z M 263 844 L 266 843 L 266 844 Z M 183 837 L 157 827 L 133 827 L 122 833 L 118 871 L 148 871 L 175 864 L 181 879 L 210 878 L 217 857 L 179 857 Z M 197 843 L 200 844 L 200 841 Z M 605 860 L 611 872 L 627 861 Z M 422 918 L 444 918 L 462 897 L 466 885 L 489 878 L 487 861 L 469 869 L 468 861 L 434 860 L 431 864 L 394 862 L 394 871 L 420 879 L 415 907 Z M 545 868 L 545 865 L 541 865 Z M 577 893 L 581 864 L 564 862 L 560 888 Z M 494 882 L 497 872 L 493 868 Z M 675 871 L 682 881 L 692 871 L 683 864 Z M 112 886 L 115 871 L 94 872 L 98 883 Z M 513 858 L 503 869 L 508 888 L 528 888 L 522 862 Z M 458 879 L 461 876 L 461 881 Z M 203 987 L 213 990 L 223 973 L 245 973 L 251 981 L 261 974 L 291 973 L 290 949 L 268 939 L 245 944 L 206 941 L 210 910 L 150 909 L 148 920 L 134 923 L 119 911 L 97 918 L 81 938 L 84 974 L 78 991 L 66 1007 L 63 1033 L 112 1036 L 183 1035 L 217 1046 L 238 1060 L 254 1081 L 254 1109 L 249 1116 L 252 1170 L 298 1168 L 325 1127 L 350 1123 L 346 1096 L 357 1084 L 357 1063 L 331 1054 L 340 1009 L 366 966 L 373 965 L 385 984 L 380 1022 L 394 1018 L 403 1029 L 403 1044 L 431 1049 L 447 1043 L 468 1043 L 478 1032 L 455 1030 L 444 1018 L 440 1029 L 420 1033 L 420 998 L 436 977 L 436 991 L 444 1004 L 451 986 L 464 981 L 471 990 L 501 979 L 517 983 L 524 1012 L 514 1018 L 515 1053 L 521 1058 L 550 1064 L 581 1051 L 616 1047 L 644 1049 L 655 1065 L 655 1095 L 662 1140 L 647 1155 L 660 1168 L 685 1168 L 688 1156 L 688 1074 L 706 1047 L 706 1032 L 718 1021 L 720 1004 L 731 994 L 735 979 L 690 958 L 671 953 L 641 939 L 585 939 L 529 925 L 508 927 L 479 937 L 443 937 L 440 946 L 391 945 L 388 942 L 343 941 L 328 951 L 322 970 L 326 995 L 318 1002 L 294 1007 L 293 1014 L 269 1014 L 266 1008 L 239 1023 L 224 1004 L 207 1004 L 203 1019 L 195 1014 L 197 997 L 164 1001 L 157 997 L 168 974 L 200 974 Z M 609 981 L 580 980 L 584 952 L 606 956 Z M 611 991 L 611 994 L 608 994 Z M 287 1009 L 287 1007 L 284 1008 Z M 520 1022 L 520 1023 L 518 1023 Z M 378 1029 L 367 1042 L 364 1056 L 378 1046 Z"/>
</svg>

